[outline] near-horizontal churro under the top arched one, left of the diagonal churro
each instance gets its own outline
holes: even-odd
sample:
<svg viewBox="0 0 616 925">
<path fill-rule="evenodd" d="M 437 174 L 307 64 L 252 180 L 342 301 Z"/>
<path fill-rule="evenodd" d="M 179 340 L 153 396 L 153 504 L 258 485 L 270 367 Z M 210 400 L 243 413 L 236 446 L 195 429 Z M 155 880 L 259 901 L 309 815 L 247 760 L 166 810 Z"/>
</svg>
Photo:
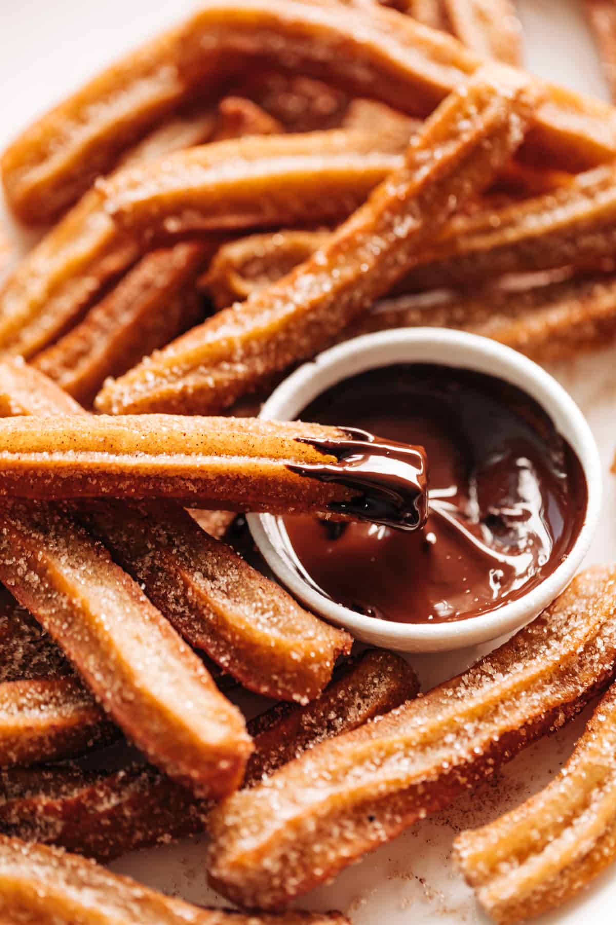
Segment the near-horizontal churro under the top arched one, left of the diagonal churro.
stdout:
<svg viewBox="0 0 616 925">
<path fill-rule="evenodd" d="M 115 223 L 145 242 L 327 221 L 347 216 L 401 166 L 395 155 L 408 141 L 406 120 L 376 137 L 364 129 L 248 136 L 128 167 L 97 186 Z"/>
</svg>

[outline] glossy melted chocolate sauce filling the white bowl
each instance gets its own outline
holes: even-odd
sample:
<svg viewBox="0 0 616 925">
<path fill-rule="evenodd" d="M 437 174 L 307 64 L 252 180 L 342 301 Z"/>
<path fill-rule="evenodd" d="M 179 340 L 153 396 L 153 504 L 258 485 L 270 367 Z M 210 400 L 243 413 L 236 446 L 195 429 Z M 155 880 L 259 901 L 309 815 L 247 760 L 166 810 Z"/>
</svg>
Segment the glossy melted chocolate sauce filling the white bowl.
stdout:
<svg viewBox="0 0 616 925">
<path fill-rule="evenodd" d="M 536 401 L 493 376 L 385 367 L 328 389 L 301 417 L 420 444 L 428 456 L 421 530 L 284 518 L 297 569 L 355 611 L 400 623 L 493 611 L 553 572 L 584 522 L 574 450 Z"/>
</svg>

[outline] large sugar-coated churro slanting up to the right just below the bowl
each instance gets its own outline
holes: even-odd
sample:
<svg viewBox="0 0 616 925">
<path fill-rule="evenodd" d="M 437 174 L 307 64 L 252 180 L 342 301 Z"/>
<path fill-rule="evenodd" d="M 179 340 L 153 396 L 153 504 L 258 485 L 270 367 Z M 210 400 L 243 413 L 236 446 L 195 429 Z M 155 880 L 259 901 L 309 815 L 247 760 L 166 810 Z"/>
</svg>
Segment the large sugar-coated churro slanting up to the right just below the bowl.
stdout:
<svg viewBox="0 0 616 925">
<path fill-rule="evenodd" d="M 589 569 L 501 648 L 316 746 L 210 818 L 211 882 L 284 907 L 574 716 L 616 668 L 616 571 Z"/>
</svg>

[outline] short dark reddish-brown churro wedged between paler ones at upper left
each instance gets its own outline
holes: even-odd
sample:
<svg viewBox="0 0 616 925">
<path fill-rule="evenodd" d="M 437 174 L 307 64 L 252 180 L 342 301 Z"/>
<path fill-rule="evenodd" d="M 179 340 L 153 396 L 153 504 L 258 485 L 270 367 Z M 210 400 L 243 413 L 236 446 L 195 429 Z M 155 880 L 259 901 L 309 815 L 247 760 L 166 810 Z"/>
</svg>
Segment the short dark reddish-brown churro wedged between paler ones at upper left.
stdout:
<svg viewBox="0 0 616 925">
<path fill-rule="evenodd" d="M 193 287 L 211 250 L 195 242 L 146 255 L 33 364 L 82 404 L 91 403 L 107 376 L 126 373 L 202 318 Z"/>
</svg>

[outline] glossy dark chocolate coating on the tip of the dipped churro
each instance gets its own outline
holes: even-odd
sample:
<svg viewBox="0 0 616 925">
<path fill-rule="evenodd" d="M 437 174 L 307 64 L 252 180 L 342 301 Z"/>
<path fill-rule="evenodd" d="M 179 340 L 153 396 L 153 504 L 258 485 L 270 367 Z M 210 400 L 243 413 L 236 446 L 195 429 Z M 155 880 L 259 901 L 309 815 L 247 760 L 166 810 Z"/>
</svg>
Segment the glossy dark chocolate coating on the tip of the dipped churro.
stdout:
<svg viewBox="0 0 616 925">
<path fill-rule="evenodd" d="M 336 482 L 358 492 L 348 501 L 332 501 L 330 510 L 370 524 L 417 530 L 428 517 L 426 454 L 421 447 L 383 440 L 357 427 L 343 427 L 347 440 L 298 437 L 337 462 L 289 465 L 297 475 Z"/>
</svg>

